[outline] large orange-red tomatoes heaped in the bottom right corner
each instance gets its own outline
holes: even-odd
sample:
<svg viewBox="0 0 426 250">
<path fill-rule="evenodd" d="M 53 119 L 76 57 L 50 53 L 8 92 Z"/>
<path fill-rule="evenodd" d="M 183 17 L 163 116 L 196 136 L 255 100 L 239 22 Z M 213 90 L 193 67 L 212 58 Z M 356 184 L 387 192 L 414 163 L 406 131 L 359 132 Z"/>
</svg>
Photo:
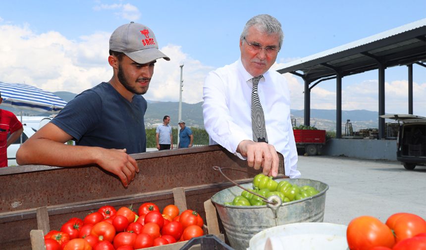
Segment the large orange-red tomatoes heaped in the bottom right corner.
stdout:
<svg viewBox="0 0 426 250">
<path fill-rule="evenodd" d="M 426 250 L 426 221 L 396 213 L 386 223 L 372 216 L 353 219 L 346 231 L 350 250 Z"/>
</svg>

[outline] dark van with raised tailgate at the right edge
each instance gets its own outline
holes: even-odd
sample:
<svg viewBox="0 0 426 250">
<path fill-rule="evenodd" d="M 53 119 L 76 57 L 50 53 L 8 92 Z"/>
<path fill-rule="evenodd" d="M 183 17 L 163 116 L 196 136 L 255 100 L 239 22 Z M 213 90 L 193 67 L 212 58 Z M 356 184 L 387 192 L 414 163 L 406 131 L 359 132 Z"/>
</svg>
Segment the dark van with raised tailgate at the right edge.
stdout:
<svg viewBox="0 0 426 250">
<path fill-rule="evenodd" d="M 383 115 L 385 119 L 398 121 L 396 159 L 405 169 L 413 170 L 417 165 L 426 166 L 426 117 L 415 115 Z"/>
</svg>

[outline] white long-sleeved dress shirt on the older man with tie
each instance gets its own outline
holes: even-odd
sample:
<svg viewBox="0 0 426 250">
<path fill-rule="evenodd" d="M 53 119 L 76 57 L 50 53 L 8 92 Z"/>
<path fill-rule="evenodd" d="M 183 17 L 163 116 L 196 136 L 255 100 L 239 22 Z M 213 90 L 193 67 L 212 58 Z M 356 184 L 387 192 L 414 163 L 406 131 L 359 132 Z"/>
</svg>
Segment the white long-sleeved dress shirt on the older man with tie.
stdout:
<svg viewBox="0 0 426 250">
<path fill-rule="evenodd" d="M 263 74 L 258 85 L 259 99 L 265 113 L 268 143 L 284 156 L 285 175 L 300 177 L 297 150 L 290 119 L 290 91 L 284 76 L 274 70 Z M 239 59 L 210 72 L 203 87 L 204 126 L 210 144 L 220 144 L 236 153 L 243 140 L 253 140 L 251 94 L 253 76 Z M 241 154 L 236 153 L 241 159 Z"/>
</svg>

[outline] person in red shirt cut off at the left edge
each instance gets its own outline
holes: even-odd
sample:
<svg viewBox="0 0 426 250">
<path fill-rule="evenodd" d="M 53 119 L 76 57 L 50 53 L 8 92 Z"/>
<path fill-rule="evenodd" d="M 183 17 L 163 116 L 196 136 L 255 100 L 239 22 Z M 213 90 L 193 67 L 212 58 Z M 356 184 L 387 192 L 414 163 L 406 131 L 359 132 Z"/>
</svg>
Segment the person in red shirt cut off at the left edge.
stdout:
<svg viewBox="0 0 426 250">
<path fill-rule="evenodd" d="M 0 92 L 0 104 L 2 102 Z M 22 131 L 24 128 L 14 114 L 0 109 L 0 168 L 7 167 L 7 147 L 21 136 Z M 9 133 L 10 135 L 7 137 Z"/>
</svg>

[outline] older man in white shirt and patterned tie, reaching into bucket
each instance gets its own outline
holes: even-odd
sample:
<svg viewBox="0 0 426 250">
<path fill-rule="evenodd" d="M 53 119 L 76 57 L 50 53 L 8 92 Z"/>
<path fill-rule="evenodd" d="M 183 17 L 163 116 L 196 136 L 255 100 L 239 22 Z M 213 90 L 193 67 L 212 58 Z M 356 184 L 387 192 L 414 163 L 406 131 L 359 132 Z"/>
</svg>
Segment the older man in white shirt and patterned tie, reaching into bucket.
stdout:
<svg viewBox="0 0 426 250">
<path fill-rule="evenodd" d="M 240 36 L 240 59 L 206 77 L 203 116 L 211 144 L 247 159 L 249 167 L 263 167 L 269 176 L 278 173 L 278 151 L 284 156 L 285 175 L 297 178 L 289 86 L 284 76 L 269 70 L 283 37 L 276 18 L 252 17 Z"/>
</svg>

